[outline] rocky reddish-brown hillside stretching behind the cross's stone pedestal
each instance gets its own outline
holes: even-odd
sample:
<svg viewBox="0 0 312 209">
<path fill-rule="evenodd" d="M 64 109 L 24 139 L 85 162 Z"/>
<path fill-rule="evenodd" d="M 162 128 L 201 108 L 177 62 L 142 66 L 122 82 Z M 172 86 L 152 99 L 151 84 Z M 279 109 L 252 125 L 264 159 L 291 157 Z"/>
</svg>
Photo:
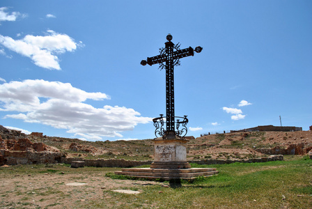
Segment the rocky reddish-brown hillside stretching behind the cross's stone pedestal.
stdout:
<svg viewBox="0 0 312 209">
<path fill-rule="evenodd" d="M 153 139 L 81 141 L 23 134 L 0 126 L 0 150 L 63 153 L 88 159 L 153 160 Z M 304 155 L 312 150 L 312 132 L 234 132 L 211 134 L 187 143 L 187 160 L 246 159 L 270 154 Z M 0 156 L 1 157 L 1 156 Z"/>
</svg>

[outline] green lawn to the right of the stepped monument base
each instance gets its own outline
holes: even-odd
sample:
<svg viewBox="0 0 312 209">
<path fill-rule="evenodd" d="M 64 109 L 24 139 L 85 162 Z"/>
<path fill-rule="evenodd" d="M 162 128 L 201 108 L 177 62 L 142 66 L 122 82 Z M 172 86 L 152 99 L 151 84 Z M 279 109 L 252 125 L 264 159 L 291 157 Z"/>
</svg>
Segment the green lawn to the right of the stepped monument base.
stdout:
<svg viewBox="0 0 312 209">
<path fill-rule="evenodd" d="M 114 194 L 116 208 L 311 208 L 312 160 L 286 157 L 286 161 L 198 165 L 217 167 L 218 176 L 182 181 L 182 187 L 143 187 L 137 196 Z M 162 191 L 159 193 L 159 191 Z M 285 197 L 285 199 L 283 198 Z M 131 203 L 131 204 L 130 204 Z M 104 208 L 104 199 L 91 208 Z"/>
</svg>

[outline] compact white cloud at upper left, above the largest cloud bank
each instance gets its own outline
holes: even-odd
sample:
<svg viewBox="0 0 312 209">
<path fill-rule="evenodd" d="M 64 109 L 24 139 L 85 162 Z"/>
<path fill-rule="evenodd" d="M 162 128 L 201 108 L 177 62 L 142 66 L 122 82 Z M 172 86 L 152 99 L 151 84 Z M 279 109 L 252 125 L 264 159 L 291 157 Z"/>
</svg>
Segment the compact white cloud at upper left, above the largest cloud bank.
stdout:
<svg viewBox="0 0 312 209">
<path fill-rule="evenodd" d="M 14 40 L 0 35 L 0 44 L 8 49 L 29 57 L 35 65 L 50 70 L 61 70 L 58 54 L 73 52 L 77 43 L 66 34 L 47 31 L 47 36 L 27 35 L 21 40 Z M 79 46 L 83 46 L 79 43 Z"/>
</svg>

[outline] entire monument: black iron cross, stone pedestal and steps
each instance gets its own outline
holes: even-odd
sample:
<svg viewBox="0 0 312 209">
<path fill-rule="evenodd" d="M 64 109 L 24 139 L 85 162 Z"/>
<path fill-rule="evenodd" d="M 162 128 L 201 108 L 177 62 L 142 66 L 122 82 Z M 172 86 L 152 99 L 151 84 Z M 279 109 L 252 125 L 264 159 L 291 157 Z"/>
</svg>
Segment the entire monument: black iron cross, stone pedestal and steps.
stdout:
<svg viewBox="0 0 312 209">
<path fill-rule="evenodd" d="M 180 65 L 180 59 L 186 56 L 194 56 L 194 52 L 201 52 L 202 47 L 188 47 L 180 49 L 180 44 L 171 42 L 172 36 L 166 36 L 168 42 L 165 47 L 159 49 L 160 54 L 142 60 L 141 65 L 159 64 L 159 68 L 166 69 L 166 117 L 153 118 L 155 126 L 154 157 L 155 161 L 150 165 L 150 169 L 122 169 L 115 172 L 127 176 L 141 178 L 161 178 L 171 179 L 191 179 L 197 176 L 212 176 L 218 171 L 216 169 L 191 169 L 187 162 L 187 116 L 175 116 L 174 111 L 174 79 L 173 68 Z M 166 130 L 165 130 L 166 127 Z"/>
</svg>

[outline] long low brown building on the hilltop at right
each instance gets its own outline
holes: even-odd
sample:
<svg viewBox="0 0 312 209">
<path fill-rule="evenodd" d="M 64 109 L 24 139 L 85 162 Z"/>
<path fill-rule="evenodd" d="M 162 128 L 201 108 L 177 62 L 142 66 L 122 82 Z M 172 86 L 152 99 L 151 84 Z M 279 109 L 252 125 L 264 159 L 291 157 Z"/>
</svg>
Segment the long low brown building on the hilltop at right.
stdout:
<svg viewBox="0 0 312 209">
<path fill-rule="evenodd" d="M 231 132 L 297 132 L 297 131 L 302 131 L 302 127 L 259 125 L 257 127 L 249 127 L 243 130 L 231 130 Z"/>
</svg>

